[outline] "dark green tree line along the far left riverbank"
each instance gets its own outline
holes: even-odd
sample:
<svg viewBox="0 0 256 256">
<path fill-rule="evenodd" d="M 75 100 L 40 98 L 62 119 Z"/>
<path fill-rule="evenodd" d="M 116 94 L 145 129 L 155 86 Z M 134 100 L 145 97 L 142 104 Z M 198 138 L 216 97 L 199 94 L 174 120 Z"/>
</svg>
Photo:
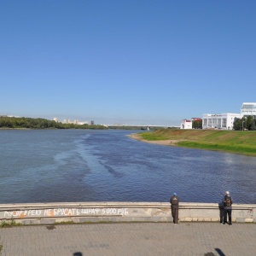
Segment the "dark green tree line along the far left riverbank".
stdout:
<svg viewBox="0 0 256 256">
<path fill-rule="evenodd" d="M 0 116 L 0 128 L 9 129 L 106 129 L 103 125 L 62 124 L 48 119 L 16 118 Z"/>
</svg>

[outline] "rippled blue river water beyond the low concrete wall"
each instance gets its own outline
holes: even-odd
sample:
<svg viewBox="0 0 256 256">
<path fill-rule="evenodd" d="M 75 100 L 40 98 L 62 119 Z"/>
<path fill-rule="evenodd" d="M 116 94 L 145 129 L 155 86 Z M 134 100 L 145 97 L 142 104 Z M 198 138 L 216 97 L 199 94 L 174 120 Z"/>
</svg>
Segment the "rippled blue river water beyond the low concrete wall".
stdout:
<svg viewBox="0 0 256 256">
<path fill-rule="evenodd" d="M 0 131 L 0 203 L 256 203 L 256 157 L 141 143 L 139 131 Z"/>
</svg>

